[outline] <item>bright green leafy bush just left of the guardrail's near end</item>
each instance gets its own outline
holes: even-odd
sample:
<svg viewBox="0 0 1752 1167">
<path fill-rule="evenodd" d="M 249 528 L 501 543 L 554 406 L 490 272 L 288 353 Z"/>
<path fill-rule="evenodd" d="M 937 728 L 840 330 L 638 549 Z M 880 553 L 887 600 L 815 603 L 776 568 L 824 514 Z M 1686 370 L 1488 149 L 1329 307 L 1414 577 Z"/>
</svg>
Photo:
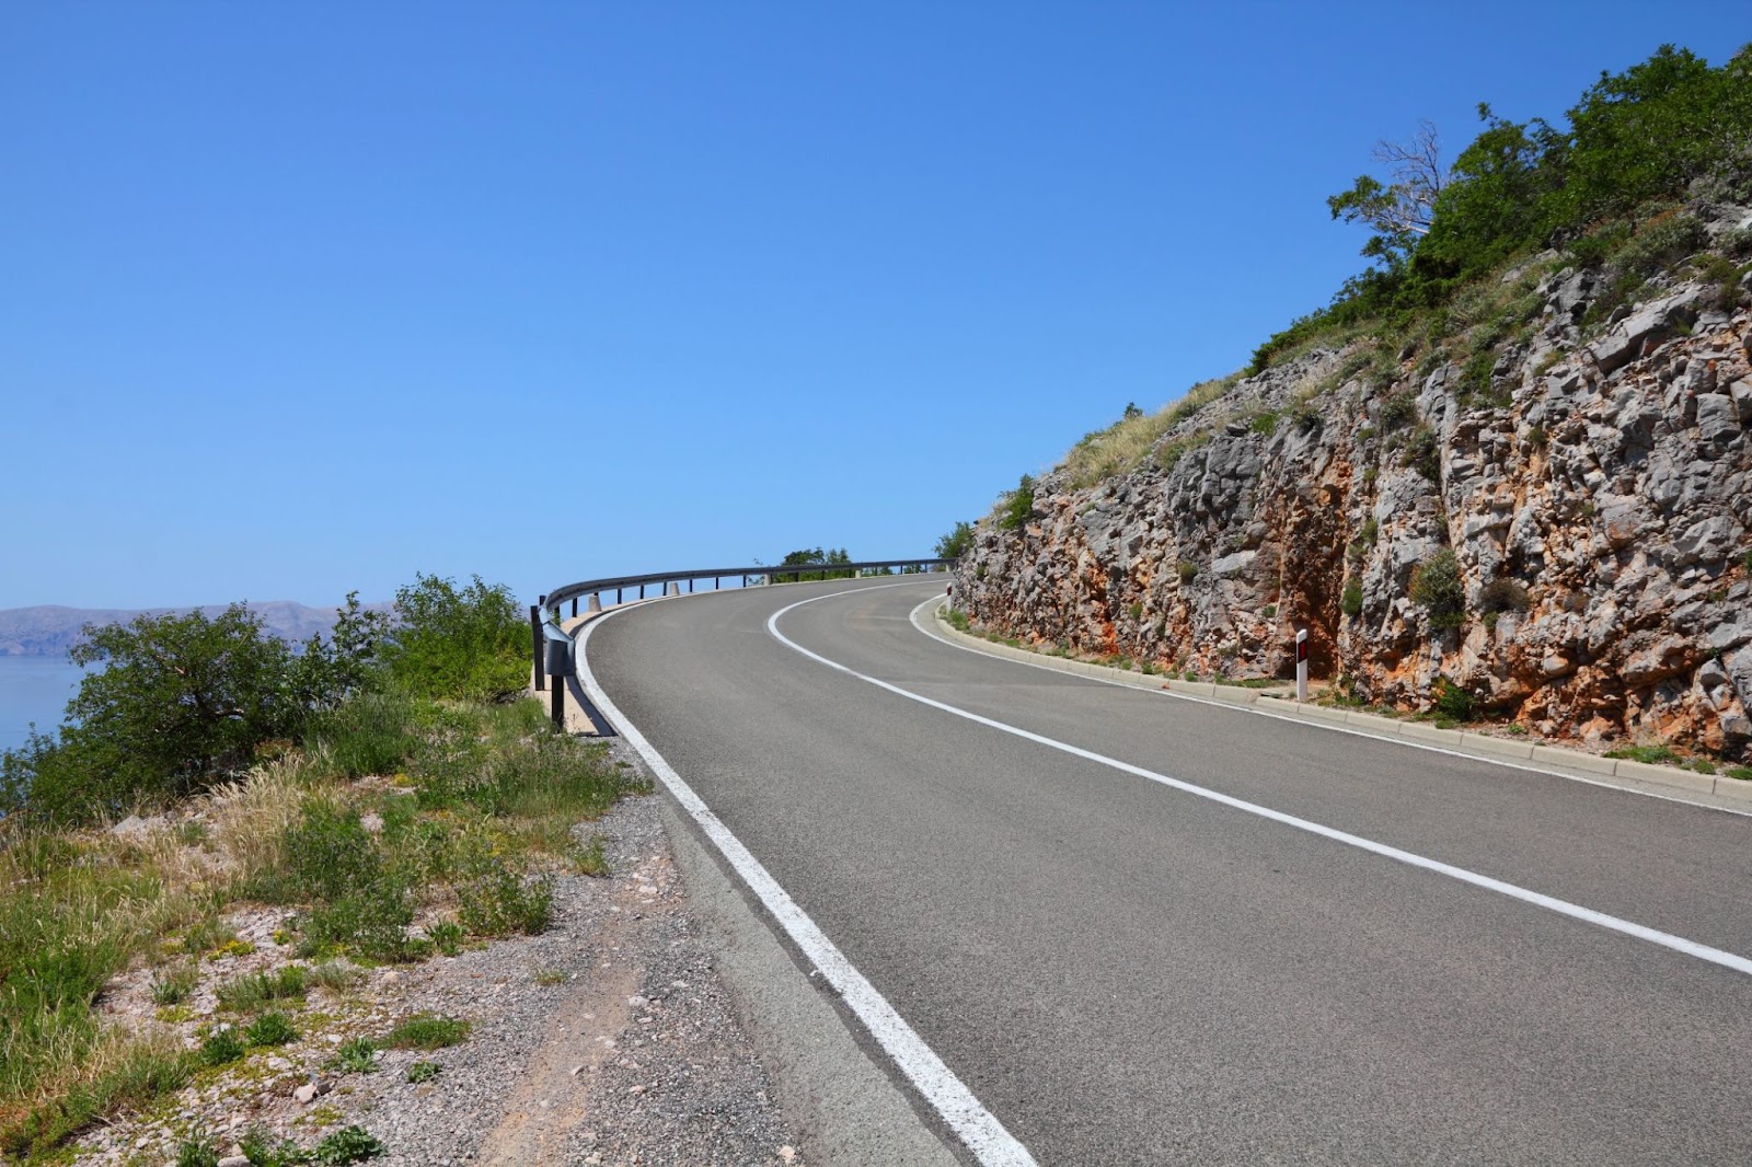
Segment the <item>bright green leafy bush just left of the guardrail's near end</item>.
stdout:
<svg viewBox="0 0 1752 1167">
<path fill-rule="evenodd" d="M 529 683 L 529 626 L 503 584 L 415 575 L 396 591 L 396 617 L 384 657 L 405 692 L 492 701 Z"/>
</svg>

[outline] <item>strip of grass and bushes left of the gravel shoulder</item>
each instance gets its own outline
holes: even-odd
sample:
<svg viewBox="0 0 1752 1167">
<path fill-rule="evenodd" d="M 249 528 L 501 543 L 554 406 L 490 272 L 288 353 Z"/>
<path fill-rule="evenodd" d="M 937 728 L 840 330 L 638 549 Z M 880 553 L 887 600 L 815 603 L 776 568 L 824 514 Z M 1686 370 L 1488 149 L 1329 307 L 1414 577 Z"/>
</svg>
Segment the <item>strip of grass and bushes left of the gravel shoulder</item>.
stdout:
<svg viewBox="0 0 1752 1167">
<path fill-rule="evenodd" d="M 242 610 L 223 627 L 194 617 L 128 626 L 109 638 L 123 664 L 81 690 L 107 717 L 7 755 L 0 1153 L 65 1156 L 88 1125 L 151 1107 L 203 1065 L 294 1041 L 310 1029 L 307 995 L 354 980 L 336 958 L 410 962 L 541 930 L 552 873 L 601 867 L 573 827 L 634 782 L 601 746 L 552 734 L 534 701 L 477 699 L 482 687 L 524 685 L 527 626 L 501 603 L 508 592 L 478 580 L 415 587 L 394 631 L 356 619 L 349 634 L 343 613 L 319 648 L 322 671 L 254 645 L 261 629 Z M 182 701 L 161 676 L 128 671 L 152 654 L 184 654 L 231 692 L 340 680 L 254 731 L 286 736 L 189 724 L 194 757 L 161 748 L 128 783 L 82 785 L 84 766 L 124 745 L 114 734 Z M 284 909 L 272 948 L 233 930 L 245 908 Z M 110 1023 L 98 997 L 142 965 L 156 1023 Z M 235 1023 L 203 1022 L 187 1008 L 196 994 Z"/>
</svg>

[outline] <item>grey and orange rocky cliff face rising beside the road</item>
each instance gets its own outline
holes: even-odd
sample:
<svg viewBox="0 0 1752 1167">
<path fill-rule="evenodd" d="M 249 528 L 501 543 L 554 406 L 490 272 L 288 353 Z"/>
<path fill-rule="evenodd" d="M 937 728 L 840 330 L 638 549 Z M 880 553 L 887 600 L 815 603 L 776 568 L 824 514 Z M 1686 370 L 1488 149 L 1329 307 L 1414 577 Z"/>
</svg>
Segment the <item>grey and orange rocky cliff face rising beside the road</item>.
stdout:
<svg viewBox="0 0 1752 1167">
<path fill-rule="evenodd" d="M 1445 678 L 1540 734 L 1747 760 L 1752 209 L 1656 235 L 1689 254 L 1547 252 L 1421 335 L 1325 338 L 1090 435 L 976 526 L 957 605 L 1235 678 L 1288 676 L 1305 627 L 1360 701 Z"/>
</svg>

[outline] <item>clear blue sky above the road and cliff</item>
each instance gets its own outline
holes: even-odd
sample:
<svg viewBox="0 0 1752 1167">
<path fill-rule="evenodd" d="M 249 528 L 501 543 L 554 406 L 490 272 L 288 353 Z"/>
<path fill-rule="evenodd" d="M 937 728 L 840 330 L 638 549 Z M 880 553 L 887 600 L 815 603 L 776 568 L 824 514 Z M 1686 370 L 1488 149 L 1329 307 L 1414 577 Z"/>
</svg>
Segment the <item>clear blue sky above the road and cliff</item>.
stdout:
<svg viewBox="0 0 1752 1167">
<path fill-rule="evenodd" d="M 915 555 L 1738 4 L 0 5 L 0 608 Z"/>
</svg>

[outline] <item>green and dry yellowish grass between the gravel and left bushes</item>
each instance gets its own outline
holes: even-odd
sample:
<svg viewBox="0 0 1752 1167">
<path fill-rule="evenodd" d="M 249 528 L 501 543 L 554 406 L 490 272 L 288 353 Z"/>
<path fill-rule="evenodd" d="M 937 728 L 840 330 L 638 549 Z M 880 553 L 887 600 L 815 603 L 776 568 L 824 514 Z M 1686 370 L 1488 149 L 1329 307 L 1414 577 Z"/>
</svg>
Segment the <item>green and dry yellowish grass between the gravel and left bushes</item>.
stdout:
<svg viewBox="0 0 1752 1167">
<path fill-rule="evenodd" d="M 282 1034 L 296 1029 L 273 1011 L 301 992 L 347 992 L 357 981 L 338 957 L 434 951 L 410 932 L 415 909 L 466 902 L 468 918 L 452 925 L 464 936 L 545 927 L 552 885 L 543 873 L 592 864 L 576 824 L 650 789 L 599 746 L 552 734 L 534 701 L 405 708 L 419 745 L 392 794 L 347 785 L 338 773 L 349 767 L 331 753 L 289 750 L 200 804 L 205 832 L 123 841 L 0 822 L 0 1151 L 23 1162 L 58 1153 L 93 1121 L 245 1053 L 244 1030 L 182 1050 L 168 1032 L 105 1029 L 95 1009 L 137 960 L 161 964 L 154 1004 L 184 1008 L 208 958 L 247 950 L 224 920 L 231 902 L 284 904 L 293 929 L 280 939 L 314 958 L 219 987 L 233 1015 L 279 1016 L 251 1025 L 247 1041 L 261 1044 L 280 1039 L 282 1023 Z M 363 829 L 363 811 L 382 817 L 382 832 Z M 214 860 L 235 874 L 214 883 Z M 456 948 L 464 939 L 442 927 L 436 936 Z"/>
</svg>

